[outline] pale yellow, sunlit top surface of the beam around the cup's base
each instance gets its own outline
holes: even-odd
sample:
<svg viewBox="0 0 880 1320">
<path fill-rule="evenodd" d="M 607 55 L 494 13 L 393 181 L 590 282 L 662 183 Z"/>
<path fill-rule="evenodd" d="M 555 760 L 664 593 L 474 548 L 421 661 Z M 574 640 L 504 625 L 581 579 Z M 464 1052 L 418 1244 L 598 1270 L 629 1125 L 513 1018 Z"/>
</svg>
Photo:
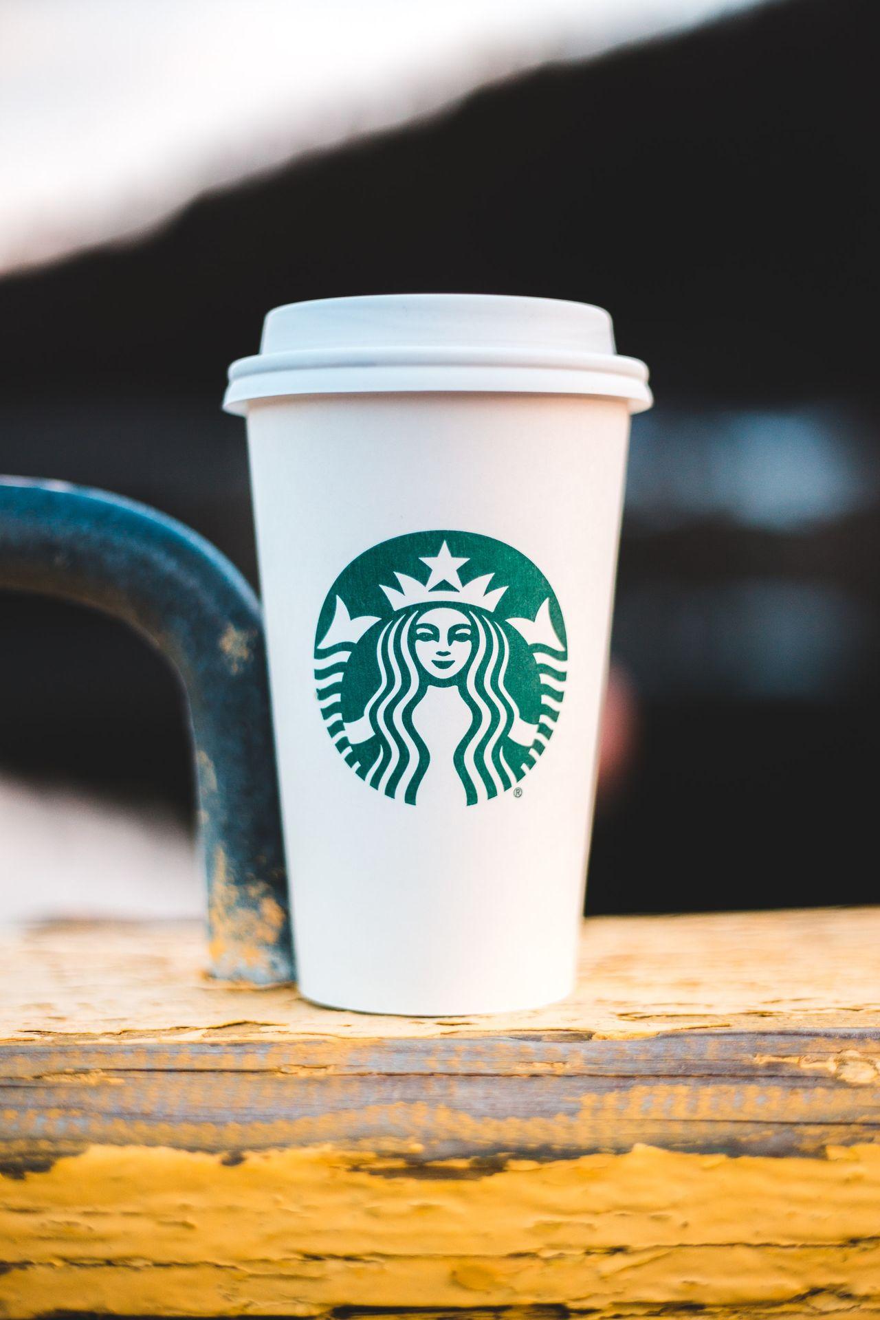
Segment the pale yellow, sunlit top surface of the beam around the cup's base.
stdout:
<svg viewBox="0 0 880 1320">
<path fill-rule="evenodd" d="M 228 894 L 219 892 L 215 902 L 222 939 L 237 940 Z M 277 917 L 269 906 L 267 919 L 274 924 Z M 240 989 L 202 975 L 201 923 L 0 929 L 0 1040 L 26 1040 L 33 1032 L 112 1036 L 121 1027 L 150 1039 L 183 1030 L 190 1039 L 211 1039 L 235 1023 L 239 1039 L 265 1039 L 270 1030 L 278 1043 L 299 1044 L 303 1036 L 389 1041 L 484 1035 L 503 1048 L 512 1032 L 558 1032 L 565 1068 L 570 1032 L 633 1040 L 706 1030 L 843 1030 L 862 1035 L 862 1052 L 871 1048 L 865 1034 L 880 1039 L 880 907 L 591 917 L 583 925 L 578 983 L 569 999 L 483 1018 L 339 1012 L 274 986 L 261 991 L 257 1020 L 243 1023 Z M 777 1045 L 772 1053 L 778 1055 Z M 876 1045 L 873 1057 L 880 1057 Z M 770 1057 L 767 1065 L 768 1072 L 776 1067 Z"/>
</svg>

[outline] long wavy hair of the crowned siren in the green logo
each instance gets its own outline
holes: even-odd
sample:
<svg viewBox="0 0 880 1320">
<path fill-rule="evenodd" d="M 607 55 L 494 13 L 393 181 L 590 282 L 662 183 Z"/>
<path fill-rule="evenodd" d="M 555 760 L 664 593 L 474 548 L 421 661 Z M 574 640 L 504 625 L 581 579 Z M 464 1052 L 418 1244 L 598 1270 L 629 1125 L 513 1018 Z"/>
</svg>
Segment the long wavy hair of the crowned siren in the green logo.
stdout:
<svg viewBox="0 0 880 1320">
<path fill-rule="evenodd" d="M 379 686 L 364 710 L 373 737 L 369 754 L 358 766 L 368 784 L 410 805 L 430 764 L 429 748 L 413 723 L 430 678 L 414 656 L 412 638 L 417 618 L 431 607 L 401 610 L 379 634 Z M 488 614 L 456 609 L 474 630 L 471 655 L 458 676 L 471 725 L 453 758 L 470 807 L 496 797 L 522 777 L 520 770 L 511 768 L 504 748 L 519 710 L 505 684 L 511 645 L 504 628 Z"/>
</svg>

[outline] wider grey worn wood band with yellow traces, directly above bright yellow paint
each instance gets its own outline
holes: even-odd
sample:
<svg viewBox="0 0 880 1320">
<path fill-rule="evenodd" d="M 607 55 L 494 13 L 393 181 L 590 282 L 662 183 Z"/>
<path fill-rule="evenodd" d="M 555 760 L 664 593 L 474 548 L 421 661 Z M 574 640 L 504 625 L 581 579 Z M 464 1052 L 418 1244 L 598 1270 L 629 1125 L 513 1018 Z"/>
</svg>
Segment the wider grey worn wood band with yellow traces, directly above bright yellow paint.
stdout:
<svg viewBox="0 0 880 1320">
<path fill-rule="evenodd" d="M 331 1142 L 421 1160 L 530 1159 L 648 1142 L 714 1154 L 818 1154 L 880 1139 L 880 1092 L 825 1077 L 769 1082 L 595 1077 L 302 1077 L 77 1072 L 0 1081 L 7 1142 L 263 1150 Z M 0 1152 L 0 1163 L 3 1155 Z"/>
</svg>

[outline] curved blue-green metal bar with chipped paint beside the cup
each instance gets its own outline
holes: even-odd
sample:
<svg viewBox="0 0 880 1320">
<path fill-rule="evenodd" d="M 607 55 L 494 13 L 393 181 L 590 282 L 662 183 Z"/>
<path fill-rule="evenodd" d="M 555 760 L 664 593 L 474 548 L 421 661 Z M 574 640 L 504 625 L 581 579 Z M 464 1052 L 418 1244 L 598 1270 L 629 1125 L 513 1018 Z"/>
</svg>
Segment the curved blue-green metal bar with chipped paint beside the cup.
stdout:
<svg viewBox="0 0 880 1320">
<path fill-rule="evenodd" d="M 145 504 L 4 477 L 0 587 L 124 619 L 175 667 L 195 742 L 210 970 L 255 985 L 293 979 L 263 618 L 241 574 Z"/>
</svg>

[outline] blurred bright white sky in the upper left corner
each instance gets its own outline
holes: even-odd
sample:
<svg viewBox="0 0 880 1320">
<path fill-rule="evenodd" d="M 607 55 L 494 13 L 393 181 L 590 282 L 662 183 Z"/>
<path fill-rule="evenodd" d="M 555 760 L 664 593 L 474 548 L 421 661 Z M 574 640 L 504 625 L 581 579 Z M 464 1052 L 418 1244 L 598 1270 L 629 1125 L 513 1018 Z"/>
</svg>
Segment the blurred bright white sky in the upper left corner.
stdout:
<svg viewBox="0 0 880 1320">
<path fill-rule="evenodd" d="M 0 275 L 748 0 L 0 0 Z"/>
</svg>

